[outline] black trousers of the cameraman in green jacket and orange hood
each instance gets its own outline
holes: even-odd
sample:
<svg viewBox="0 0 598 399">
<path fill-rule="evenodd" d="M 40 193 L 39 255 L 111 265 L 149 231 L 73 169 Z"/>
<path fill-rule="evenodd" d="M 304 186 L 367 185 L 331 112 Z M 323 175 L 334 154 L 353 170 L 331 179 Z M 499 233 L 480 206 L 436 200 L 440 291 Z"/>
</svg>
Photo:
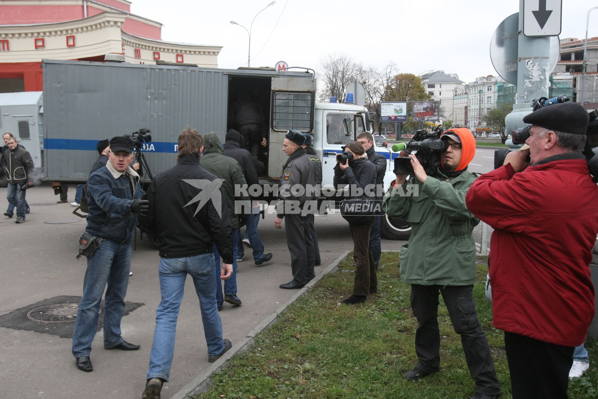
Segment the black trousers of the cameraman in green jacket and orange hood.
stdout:
<svg viewBox="0 0 598 399">
<path fill-rule="evenodd" d="M 411 309 L 418 322 L 415 333 L 417 367 L 429 373 L 440 370 L 438 294 L 441 293 L 449 310 L 454 332 L 461 336 L 465 361 L 469 374 L 475 380 L 476 392 L 498 395 L 501 385 L 496 378 L 486 334 L 478 321 L 473 288 L 473 285 L 411 284 Z"/>
</svg>

